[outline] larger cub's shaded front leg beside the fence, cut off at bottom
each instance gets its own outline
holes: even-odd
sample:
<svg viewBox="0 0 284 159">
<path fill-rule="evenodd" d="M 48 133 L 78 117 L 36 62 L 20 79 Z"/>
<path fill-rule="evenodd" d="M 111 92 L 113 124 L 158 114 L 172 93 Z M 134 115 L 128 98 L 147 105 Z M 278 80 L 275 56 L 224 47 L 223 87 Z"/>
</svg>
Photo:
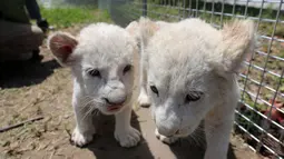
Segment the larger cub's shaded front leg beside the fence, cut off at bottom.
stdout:
<svg viewBox="0 0 284 159">
<path fill-rule="evenodd" d="M 204 159 L 226 159 L 229 136 L 234 121 L 234 110 L 227 115 L 213 115 L 205 119 L 207 149 Z"/>
</svg>

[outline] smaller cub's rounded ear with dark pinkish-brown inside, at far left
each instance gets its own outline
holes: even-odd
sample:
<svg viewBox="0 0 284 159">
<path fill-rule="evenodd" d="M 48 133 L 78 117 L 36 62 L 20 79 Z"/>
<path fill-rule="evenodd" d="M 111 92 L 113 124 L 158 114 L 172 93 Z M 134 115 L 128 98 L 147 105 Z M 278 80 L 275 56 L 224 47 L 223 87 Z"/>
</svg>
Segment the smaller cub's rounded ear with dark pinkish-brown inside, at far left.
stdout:
<svg viewBox="0 0 284 159">
<path fill-rule="evenodd" d="M 48 48 L 61 66 L 71 64 L 71 54 L 77 44 L 76 38 L 67 32 L 55 32 L 48 38 Z"/>
</svg>

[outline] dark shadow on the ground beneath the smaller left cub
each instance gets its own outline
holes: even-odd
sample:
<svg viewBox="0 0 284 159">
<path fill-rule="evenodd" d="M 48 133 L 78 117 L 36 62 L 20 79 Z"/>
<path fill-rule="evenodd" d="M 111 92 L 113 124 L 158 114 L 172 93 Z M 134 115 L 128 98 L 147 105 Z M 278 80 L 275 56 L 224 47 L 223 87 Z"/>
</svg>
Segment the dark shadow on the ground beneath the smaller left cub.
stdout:
<svg viewBox="0 0 284 159">
<path fill-rule="evenodd" d="M 144 138 L 141 138 L 140 143 L 134 148 L 123 148 L 119 146 L 119 143 L 114 139 L 115 118 L 112 116 L 104 116 L 102 119 L 100 118 L 98 126 L 100 128 L 98 137 L 92 143 L 87 146 L 87 149 L 94 152 L 96 159 L 154 159 L 154 156 L 151 155 Z M 141 131 L 139 121 L 137 120 L 137 115 L 134 111 L 131 126 Z"/>
</svg>

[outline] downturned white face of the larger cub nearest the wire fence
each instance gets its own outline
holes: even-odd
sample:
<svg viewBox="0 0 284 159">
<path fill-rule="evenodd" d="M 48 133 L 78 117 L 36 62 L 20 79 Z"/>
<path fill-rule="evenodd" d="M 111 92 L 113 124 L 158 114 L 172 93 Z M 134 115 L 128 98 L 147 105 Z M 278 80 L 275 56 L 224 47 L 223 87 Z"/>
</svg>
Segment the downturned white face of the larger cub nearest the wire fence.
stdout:
<svg viewBox="0 0 284 159">
<path fill-rule="evenodd" d="M 147 92 L 157 129 L 164 136 L 188 136 L 216 102 L 218 77 L 198 57 L 155 58 L 149 59 Z"/>
</svg>

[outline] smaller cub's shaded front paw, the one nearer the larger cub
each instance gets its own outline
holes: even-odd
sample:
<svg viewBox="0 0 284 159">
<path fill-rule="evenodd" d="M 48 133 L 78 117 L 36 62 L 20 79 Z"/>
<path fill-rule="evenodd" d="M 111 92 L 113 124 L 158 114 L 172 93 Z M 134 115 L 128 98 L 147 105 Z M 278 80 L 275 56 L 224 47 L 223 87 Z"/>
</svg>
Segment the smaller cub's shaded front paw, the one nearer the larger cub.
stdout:
<svg viewBox="0 0 284 159">
<path fill-rule="evenodd" d="M 116 130 L 115 138 L 121 147 L 134 147 L 140 141 L 140 132 L 130 127 L 128 130 Z"/>
</svg>

